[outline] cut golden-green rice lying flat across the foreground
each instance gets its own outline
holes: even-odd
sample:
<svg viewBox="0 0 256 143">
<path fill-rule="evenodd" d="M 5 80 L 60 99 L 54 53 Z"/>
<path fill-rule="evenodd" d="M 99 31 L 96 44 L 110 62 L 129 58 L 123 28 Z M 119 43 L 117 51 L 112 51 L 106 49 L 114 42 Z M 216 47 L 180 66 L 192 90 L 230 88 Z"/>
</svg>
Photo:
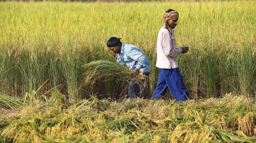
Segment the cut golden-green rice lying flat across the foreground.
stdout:
<svg viewBox="0 0 256 143">
<path fill-rule="evenodd" d="M 256 105 L 232 94 L 198 102 L 111 102 L 92 96 L 70 103 L 52 93 L 46 102 L 19 103 L 10 104 L 15 110 L 7 104 L 0 110 L 1 143 L 256 142 Z"/>
</svg>

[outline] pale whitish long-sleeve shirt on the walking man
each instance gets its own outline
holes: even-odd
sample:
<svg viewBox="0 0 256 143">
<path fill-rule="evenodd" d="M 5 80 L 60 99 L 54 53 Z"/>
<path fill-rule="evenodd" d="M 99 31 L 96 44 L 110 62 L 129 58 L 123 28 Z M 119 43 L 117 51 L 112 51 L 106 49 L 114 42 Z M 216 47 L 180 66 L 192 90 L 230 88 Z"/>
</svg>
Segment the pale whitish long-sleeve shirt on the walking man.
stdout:
<svg viewBox="0 0 256 143">
<path fill-rule="evenodd" d="M 177 68 L 177 56 L 182 52 L 181 48 L 176 48 L 173 29 L 169 32 L 168 29 L 162 27 L 159 30 L 156 42 L 156 67 L 161 69 Z"/>
</svg>

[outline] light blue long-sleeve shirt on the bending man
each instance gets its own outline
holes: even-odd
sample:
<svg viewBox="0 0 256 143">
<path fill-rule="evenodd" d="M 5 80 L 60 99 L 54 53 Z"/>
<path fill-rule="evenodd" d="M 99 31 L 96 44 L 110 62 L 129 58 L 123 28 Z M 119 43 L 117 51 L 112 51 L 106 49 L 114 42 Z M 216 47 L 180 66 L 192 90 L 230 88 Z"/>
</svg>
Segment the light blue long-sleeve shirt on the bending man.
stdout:
<svg viewBox="0 0 256 143">
<path fill-rule="evenodd" d="M 137 68 L 143 73 L 150 72 L 150 65 L 145 53 L 131 44 L 122 44 L 121 53 L 117 54 L 116 62 L 126 64 L 130 70 Z"/>
</svg>

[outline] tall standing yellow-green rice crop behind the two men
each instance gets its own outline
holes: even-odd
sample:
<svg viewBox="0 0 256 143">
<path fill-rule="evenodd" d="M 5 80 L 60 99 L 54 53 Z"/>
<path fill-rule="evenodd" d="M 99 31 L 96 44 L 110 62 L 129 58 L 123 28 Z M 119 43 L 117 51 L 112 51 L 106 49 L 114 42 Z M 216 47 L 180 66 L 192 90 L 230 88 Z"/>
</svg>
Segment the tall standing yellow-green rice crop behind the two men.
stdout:
<svg viewBox="0 0 256 143">
<path fill-rule="evenodd" d="M 178 62 L 192 97 L 255 95 L 255 4 L 1 2 L 0 92 L 23 96 L 47 81 L 38 94 L 56 87 L 72 101 L 88 97 L 83 65 L 113 60 L 105 42 L 116 36 L 148 56 L 152 93 L 158 76 L 153 57 L 157 33 L 163 12 L 172 8 L 180 13 L 176 45 L 190 47 Z M 93 94 L 120 94 L 111 85 L 99 83 Z"/>
</svg>

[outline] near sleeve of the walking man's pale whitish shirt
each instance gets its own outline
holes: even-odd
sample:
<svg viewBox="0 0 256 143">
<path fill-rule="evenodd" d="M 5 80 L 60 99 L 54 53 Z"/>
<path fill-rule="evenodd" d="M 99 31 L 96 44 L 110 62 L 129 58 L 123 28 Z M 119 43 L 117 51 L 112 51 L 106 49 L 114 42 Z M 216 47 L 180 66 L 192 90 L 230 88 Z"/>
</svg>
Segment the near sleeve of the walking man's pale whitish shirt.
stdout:
<svg viewBox="0 0 256 143">
<path fill-rule="evenodd" d="M 163 41 L 162 44 L 163 44 L 163 51 L 165 56 L 177 57 L 178 54 L 182 52 L 182 49 L 172 48 L 172 40 L 169 33 L 167 32 L 163 33 L 162 41 Z"/>
</svg>

